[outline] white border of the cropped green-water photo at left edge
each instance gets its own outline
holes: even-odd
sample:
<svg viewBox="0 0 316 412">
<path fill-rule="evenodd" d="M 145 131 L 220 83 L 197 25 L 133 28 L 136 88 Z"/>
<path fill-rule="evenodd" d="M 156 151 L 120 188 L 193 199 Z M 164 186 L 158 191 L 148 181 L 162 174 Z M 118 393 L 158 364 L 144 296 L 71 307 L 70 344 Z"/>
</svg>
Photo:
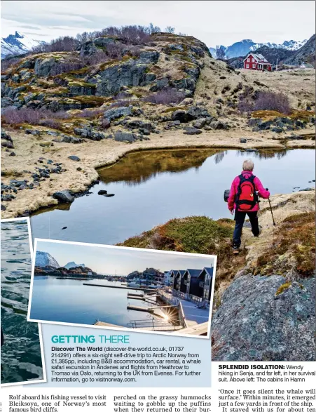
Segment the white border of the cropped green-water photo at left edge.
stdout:
<svg viewBox="0 0 316 412">
<path fill-rule="evenodd" d="M 33 274 L 33 266 L 34 266 L 34 251 L 32 247 L 32 232 L 31 232 L 31 222 L 30 219 L 25 217 L 25 218 L 12 218 L 12 219 L 1 219 L 0 222 L 16 222 L 18 220 L 26 220 L 27 221 L 27 229 L 29 232 L 29 251 L 31 253 L 31 260 L 32 260 L 32 273 L 31 273 L 31 284 L 29 286 L 29 290 L 31 291 L 32 287 L 32 274 Z M 0 290 L 1 290 L 1 279 L 0 279 Z M 1 293 L 0 293 L 1 295 Z M 28 310 L 27 314 L 29 313 L 29 305 L 28 305 Z M 27 316 L 27 321 L 28 321 L 28 316 Z M 41 347 L 41 361 L 42 361 L 42 369 L 43 369 L 43 379 L 34 379 L 34 380 L 26 380 L 25 382 L 14 382 L 14 383 L 1 383 L 0 387 L 7 387 L 7 386 L 18 386 L 18 385 L 30 385 L 30 384 L 35 384 L 35 383 L 45 383 L 47 382 L 46 378 L 46 366 L 45 366 L 45 356 L 44 356 L 44 347 L 43 347 L 43 336 L 42 336 L 42 330 L 41 330 L 41 324 L 38 324 L 39 326 L 39 345 Z"/>
</svg>

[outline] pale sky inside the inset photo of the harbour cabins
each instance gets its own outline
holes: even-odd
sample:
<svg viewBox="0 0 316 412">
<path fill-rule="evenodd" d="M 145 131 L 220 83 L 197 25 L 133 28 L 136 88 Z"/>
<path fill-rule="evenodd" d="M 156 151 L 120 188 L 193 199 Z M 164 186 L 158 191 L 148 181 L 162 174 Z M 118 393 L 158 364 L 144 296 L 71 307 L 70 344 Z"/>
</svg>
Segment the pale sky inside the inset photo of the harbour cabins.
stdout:
<svg viewBox="0 0 316 412">
<path fill-rule="evenodd" d="M 184 253 L 139 251 L 135 248 L 107 248 L 80 244 L 37 241 L 37 251 L 48 252 L 60 266 L 84 263 L 99 274 L 128 275 L 134 270 L 143 272 L 147 267 L 165 270 L 203 269 L 214 266 L 214 258 Z"/>
</svg>

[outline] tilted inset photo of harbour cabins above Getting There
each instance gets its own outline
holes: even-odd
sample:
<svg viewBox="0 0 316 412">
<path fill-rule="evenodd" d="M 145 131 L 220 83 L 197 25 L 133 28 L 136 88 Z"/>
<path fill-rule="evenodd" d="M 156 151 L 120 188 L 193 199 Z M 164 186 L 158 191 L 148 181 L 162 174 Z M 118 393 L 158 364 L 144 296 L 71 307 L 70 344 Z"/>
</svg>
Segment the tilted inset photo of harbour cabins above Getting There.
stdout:
<svg viewBox="0 0 316 412">
<path fill-rule="evenodd" d="M 29 321 L 208 338 L 217 257 L 35 239 Z"/>
</svg>

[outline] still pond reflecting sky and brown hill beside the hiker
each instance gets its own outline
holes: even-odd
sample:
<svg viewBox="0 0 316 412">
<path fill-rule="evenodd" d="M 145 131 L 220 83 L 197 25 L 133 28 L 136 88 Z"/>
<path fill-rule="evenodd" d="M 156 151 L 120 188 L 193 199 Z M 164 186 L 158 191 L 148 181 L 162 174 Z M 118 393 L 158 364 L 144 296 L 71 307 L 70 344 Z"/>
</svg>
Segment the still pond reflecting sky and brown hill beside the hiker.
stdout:
<svg viewBox="0 0 316 412">
<path fill-rule="evenodd" d="M 238 150 L 177 149 L 129 154 L 99 170 L 101 181 L 71 205 L 32 216 L 34 237 L 116 244 L 144 230 L 188 215 L 228 218 L 224 190 L 254 160 L 254 174 L 272 194 L 313 187 L 315 150 L 247 153 Z M 99 190 L 114 197 L 99 196 Z M 67 226 L 66 230 L 62 227 Z"/>
</svg>

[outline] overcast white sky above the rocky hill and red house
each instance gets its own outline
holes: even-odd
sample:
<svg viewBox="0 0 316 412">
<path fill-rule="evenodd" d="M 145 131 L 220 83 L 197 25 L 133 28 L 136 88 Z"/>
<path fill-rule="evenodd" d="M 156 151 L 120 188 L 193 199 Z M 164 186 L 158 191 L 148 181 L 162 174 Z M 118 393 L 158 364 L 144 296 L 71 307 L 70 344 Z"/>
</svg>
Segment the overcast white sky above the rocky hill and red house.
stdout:
<svg viewBox="0 0 316 412">
<path fill-rule="evenodd" d="M 1 1 L 1 36 L 23 32 L 49 41 L 109 25 L 175 27 L 209 47 L 309 39 L 315 1 Z"/>
</svg>

